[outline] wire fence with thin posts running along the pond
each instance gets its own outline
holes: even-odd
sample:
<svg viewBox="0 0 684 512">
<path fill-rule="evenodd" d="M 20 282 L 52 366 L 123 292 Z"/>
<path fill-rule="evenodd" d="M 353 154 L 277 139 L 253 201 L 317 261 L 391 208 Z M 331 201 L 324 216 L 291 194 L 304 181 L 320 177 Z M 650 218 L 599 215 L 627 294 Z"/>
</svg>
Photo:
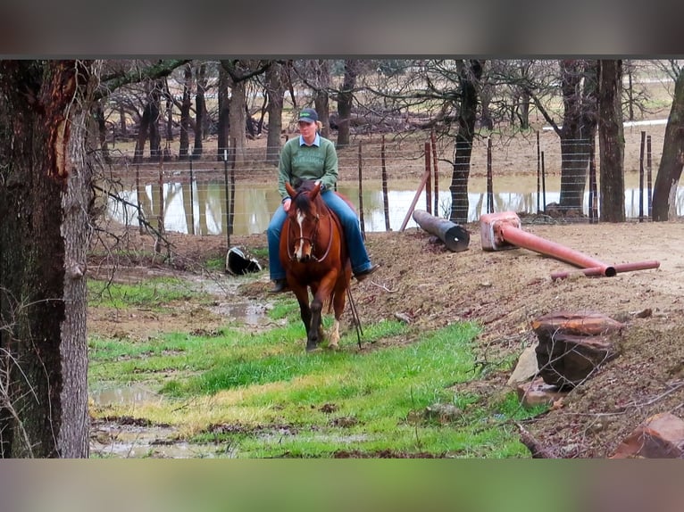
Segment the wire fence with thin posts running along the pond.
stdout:
<svg viewBox="0 0 684 512">
<path fill-rule="evenodd" d="M 625 215 L 647 220 L 659 158 L 642 131 L 637 162 L 625 159 Z M 647 143 L 647 144 L 646 144 Z M 468 178 L 455 178 L 453 144 L 427 139 L 386 140 L 384 136 L 338 148 L 341 179 L 338 192 L 355 204 L 363 232 L 403 230 L 416 226 L 414 209 L 448 218 L 452 202 L 467 199 L 467 222 L 495 211 L 521 216 L 548 216 L 565 222 L 596 222 L 599 204 L 596 141 L 569 140 L 537 133 L 524 139 L 477 140 L 472 147 Z M 634 153 L 626 146 L 625 153 Z M 263 233 L 279 206 L 277 166 L 266 161 L 264 147 L 247 147 L 242 154 L 224 153 L 179 161 L 134 164 L 133 153 L 120 153 L 108 169 L 106 215 L 125 226 L 149 223 L 160 231 L 191 235 L 251 235 Z M 561 171 L 562 154 L 566 169 Z M 659 155 L 658 155 L 659 157 Z M 158 160 L 158 159 L 157 159 Z M 636 167 L 636 169 L 635 169 Z M 587 170 L 588 169 L 588 170 Z M 580 177 L 580 178 L 578 178 Z M 563 194 L 580 194 L 580 209 L 563 209 Z M 467 183 L 467 186 L 466 186 Z M 450 186 L 462 190 L 452 194 Z M 678 215 L 684 193 L 675 198 Z M 142 219 L 142 222 L 141 222 Z"/>
</svg>

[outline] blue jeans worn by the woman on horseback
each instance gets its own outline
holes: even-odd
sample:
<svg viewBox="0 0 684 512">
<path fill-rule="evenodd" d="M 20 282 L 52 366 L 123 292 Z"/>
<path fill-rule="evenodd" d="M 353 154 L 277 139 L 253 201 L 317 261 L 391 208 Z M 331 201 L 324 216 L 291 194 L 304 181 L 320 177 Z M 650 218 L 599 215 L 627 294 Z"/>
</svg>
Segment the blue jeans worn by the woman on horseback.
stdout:
<svg viewBox="0 0 684 512">
<path fill-rule="evenodd" d="M 321 192 L 321 197 L 328 205 L 328 208 L 334 211 L 338 216 L 342 228 L 345 231 L 349 259 L 352 260 L 352 272 L 357 274 L 371 268 L 371 260 L 368 257 L 368 252 L 366 252 L 366 247 L 363 244 L 361 227 L 359 226 L 359 219 L 356 218 L 355 211 L 349 207 L 344 199 L 330 190 Z M 285 268 L 283 268 L 282 263 L 280 263 L 279 245 L 280 231 L 282 230 L 282 225 L 287 217 L 288 214 L 283 210 L 281 204 L 278 207 L 278 210 L 273 213 L 271 223 L 266 231 L 269 242 L 269 272 L 271 274 L 271 279 L 274 280 L 285 278 Z"/>
</svg>

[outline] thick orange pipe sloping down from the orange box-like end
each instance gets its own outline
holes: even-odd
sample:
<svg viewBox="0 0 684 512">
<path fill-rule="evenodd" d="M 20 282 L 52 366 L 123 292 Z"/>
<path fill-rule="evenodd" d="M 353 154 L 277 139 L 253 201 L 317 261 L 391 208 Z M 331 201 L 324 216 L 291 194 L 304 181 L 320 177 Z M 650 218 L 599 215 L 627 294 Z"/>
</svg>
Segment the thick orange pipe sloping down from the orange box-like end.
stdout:
<svg viewBox="0 0 684 512">
<path fill-rule="evenodd" d="M 500 223 L 500 226 L 495 225 L 494 229 L 495 231 L 498 229 L 501 237 L 509 244 L 524 247 L 530 251 L 541 252 L 581 268 L 596 268 L 596 272 L 603 276 L 613 277 L 617 273 L 614 267 L 606 265 L 603 261 L 595 260 L 565 245 L 556 244 L 540 236 L 527 233 L 519 227 Z"/>
</svg>

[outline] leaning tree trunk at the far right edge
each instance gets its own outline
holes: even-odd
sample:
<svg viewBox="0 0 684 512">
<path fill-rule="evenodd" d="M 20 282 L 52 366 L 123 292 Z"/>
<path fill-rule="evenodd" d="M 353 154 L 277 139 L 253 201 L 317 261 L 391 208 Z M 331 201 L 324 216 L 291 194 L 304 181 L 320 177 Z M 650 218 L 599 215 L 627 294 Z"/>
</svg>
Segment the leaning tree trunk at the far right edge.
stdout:
<svg viewBox="0 0 684 512">
<path fill-rule="evenodd" d="M 674 98 L 670 116 L 665 127 L 663 156 L 653 187 L 653 219 L 669 219 L 677 186 L 680 183 L 681 169 L 684 165 L 684 70 L 680 70 L 674 86 Z"/>
</svg>

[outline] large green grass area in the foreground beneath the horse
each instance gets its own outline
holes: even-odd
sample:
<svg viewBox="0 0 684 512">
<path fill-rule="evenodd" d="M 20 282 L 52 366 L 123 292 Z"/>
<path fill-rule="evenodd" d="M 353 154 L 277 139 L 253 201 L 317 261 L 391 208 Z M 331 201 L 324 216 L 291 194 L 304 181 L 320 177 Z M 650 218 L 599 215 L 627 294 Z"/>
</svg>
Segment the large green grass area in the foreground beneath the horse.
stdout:
<svg viewBox="0 0 684 512">
<path fill-rule="evenodd" d="M 138 408 L 138 415 L 188 421 L 193 442 L 230 446 L 241 458 L 327 458 L 339 450 L 529 456 L 511 420 L 542 409 L 522 409 L 513 393 L 484 403 L 455 391 L 477 378 L 471 351 L 477 326 L 455 324 L 409 341 L 417 334 L 407 326 L 383 321 L 365 326 L 364 334 L 363 351 L 350 330 L 341 351 L 309 354 L 298 320 L 261 334 L 224 329 L 212 337 L 167 334 L 145 343 L 95 338 L 90 382 L 159 383 L 167 400 Z M 436 404 L 456 412 L 426 414 Z M 178 417 L 185 409 L 192 409 L 188 418 Z"/>
</svg>

